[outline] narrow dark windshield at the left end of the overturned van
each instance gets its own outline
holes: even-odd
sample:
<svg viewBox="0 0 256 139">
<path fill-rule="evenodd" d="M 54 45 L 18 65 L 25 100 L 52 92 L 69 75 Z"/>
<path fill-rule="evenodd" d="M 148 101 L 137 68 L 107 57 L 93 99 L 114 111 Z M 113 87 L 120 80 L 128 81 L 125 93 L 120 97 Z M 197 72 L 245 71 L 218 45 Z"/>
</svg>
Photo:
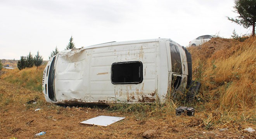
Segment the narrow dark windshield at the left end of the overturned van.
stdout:
<svg viewBox="0 0 256 139">
<path fill-rule="evenodd" d="M 52 59 L 52 63 L 51 63 L 50 70 L 49 70 L 49 76 L 48 76 L 48 97 L 52 101 L 56 101 L 55 88 L 54 88 L 55 60 L 56 60 L 56 56 Z"/>
</svg>

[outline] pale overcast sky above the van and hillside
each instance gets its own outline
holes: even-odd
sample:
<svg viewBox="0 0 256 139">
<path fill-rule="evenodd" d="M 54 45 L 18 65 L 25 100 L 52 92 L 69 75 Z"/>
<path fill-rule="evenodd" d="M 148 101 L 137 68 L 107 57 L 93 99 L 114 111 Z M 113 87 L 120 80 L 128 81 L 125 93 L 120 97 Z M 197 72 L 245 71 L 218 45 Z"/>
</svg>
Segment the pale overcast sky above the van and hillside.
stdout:
<svg viewBox="0 0 256 139">
<path fill-rule="evenodd" d="M 48 60 L 71 35 L 79 48 L 158 37 L 188 46 L 201 35 L 251 33 L 227 20 L 237 16 L 233 6 L 233 0 L 0 0 L 0 59 L 39 51 Z"/>
</svg>

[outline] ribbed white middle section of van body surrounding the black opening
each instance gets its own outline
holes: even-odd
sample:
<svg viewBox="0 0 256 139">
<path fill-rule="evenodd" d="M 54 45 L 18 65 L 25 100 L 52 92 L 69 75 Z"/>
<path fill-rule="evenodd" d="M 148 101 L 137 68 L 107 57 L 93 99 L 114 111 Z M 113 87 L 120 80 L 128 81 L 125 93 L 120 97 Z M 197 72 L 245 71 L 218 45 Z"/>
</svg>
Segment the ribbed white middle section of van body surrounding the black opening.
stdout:
<svg viewBox="0 0 256 139">
<path fill-rule="evenodd" d="M 90 63 L 90 100 L 92 102 L 154 102 L 157 89 L 157 45 L 159 42 L 93 48 Z M 142 62 L 142 83 L 115 85 L 111 83 L 111 65 L 126 61 Z"/>
</svg>

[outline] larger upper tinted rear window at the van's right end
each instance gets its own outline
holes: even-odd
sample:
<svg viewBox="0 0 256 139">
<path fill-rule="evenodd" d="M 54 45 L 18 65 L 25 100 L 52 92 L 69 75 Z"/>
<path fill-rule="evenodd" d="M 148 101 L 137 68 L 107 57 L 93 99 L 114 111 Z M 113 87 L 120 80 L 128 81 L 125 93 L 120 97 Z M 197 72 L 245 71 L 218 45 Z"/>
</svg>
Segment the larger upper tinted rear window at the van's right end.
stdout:
<svg viewBox="0 0 256 139">
<path fill-rule="evenodd" d="M 174 73 L 182 74 L 182 63 L 178 46 L 170 43 L 171 50 L 171 70 Z"/>
</svg>

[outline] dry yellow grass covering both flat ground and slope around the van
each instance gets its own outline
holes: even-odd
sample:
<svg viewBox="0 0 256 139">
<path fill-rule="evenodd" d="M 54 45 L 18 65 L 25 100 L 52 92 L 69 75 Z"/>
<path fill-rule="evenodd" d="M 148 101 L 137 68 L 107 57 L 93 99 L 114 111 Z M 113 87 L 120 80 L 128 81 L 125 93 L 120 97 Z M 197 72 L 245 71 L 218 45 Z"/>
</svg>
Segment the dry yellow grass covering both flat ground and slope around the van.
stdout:
<svg viewBox="0 0 256 139">
<path fill-rule="evenodd" d="M 44 66 L 36 69 L 4 70 L 0 78 L 0 132 L 3 139 L 33 138 L 143 138 L 154 129 L 156 138 L 255 138 L 242 129 L 256 129 L 256 38 L 244 42 L 212 39 L 199 47 L 189 47 L 193 59 L 194 79 L 202 88 L 194 117 L 175 116 L 182 102 L 159 104 L 118 104 L 109 108 L 88 106 L 64 108 L 46 103 L 41 86 Z M 34 80 L 34 81 L 29 81 Z M 37 98 L 36 104 L 26 104 Z M 92 107 L 92 106 L 90 106 Z M 36 108 L 43 108 L 35 112 Z M 108 127 L 81 125 L 99 115 L 126 117 Z M 34 120 L 33 122 L 31 122 Z M 30 123 L 29 123 L 30 122 Z M 228 128 L 219 132 L 218 129 Z"/>
</svg>

